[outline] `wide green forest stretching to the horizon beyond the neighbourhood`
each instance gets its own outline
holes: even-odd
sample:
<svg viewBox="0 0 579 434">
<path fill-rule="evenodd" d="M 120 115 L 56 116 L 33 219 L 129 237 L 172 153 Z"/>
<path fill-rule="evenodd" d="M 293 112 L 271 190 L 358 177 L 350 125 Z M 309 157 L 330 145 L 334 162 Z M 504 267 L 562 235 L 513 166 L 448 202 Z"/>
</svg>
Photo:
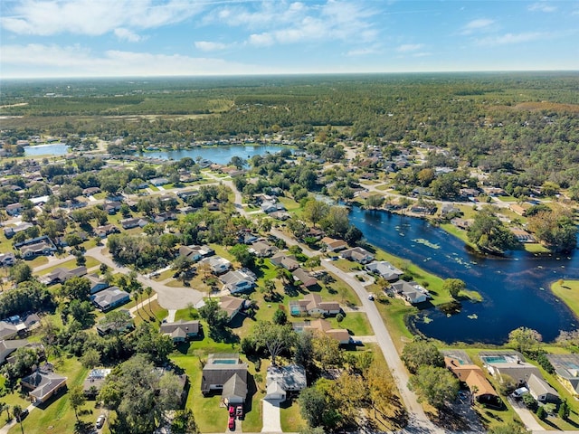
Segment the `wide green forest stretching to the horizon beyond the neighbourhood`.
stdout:
<svg viewBox="0 0 579 434">
<path fill-rule="evenodd" d="M 6 81 L 0 116 L 31 134 L 124 137 L 124 144 L 341 137 L 446 147 L 496 174 L 495 184 L 579 181 L 579 74 L 479 73 L 158 80 Z M 22 118 L 10 118 L 22 117 Z M 330 143 L 331 145 L 331 143 Z"/>
</svg>

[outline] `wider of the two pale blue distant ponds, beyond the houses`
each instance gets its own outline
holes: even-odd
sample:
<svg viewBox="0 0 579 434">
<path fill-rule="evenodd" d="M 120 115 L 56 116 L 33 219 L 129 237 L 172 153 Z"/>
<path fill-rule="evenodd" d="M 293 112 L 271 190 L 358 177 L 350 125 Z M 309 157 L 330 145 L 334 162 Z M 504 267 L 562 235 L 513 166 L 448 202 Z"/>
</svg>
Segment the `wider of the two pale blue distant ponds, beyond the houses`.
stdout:
<svg viewBox="0 0 579 434">
<path fill-rule="evenodd" d="M 266 153 L 275 154 L 282 149 L 288 149 L 288 146 L 208 146 L 178 151 L 150 151 L 140 155 L 177 161 L 185 156 L 193 158 L 195 161 L 197 157 L 200 157 L 218 165 L 226 165 L 233 156 L 240 156 L 248 160 L 252 156 L 261 156 Z"/>
</svg>

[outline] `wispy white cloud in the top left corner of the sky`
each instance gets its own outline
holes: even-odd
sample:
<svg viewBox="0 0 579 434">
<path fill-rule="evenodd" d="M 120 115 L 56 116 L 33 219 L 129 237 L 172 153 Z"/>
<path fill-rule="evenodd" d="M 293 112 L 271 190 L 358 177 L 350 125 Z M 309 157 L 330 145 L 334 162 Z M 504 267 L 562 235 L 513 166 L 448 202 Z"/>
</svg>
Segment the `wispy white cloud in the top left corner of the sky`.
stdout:
<svg viewBox="0 0 579 434">
<path fill-rule="evenodd" d="M 178 23 L 203 7 L 204 3 L 181 0 L 22 0 L 4 13 L 0 25 L 19 34 L 94 36 L 119 28 L 147 29 Z"/>
</svg>

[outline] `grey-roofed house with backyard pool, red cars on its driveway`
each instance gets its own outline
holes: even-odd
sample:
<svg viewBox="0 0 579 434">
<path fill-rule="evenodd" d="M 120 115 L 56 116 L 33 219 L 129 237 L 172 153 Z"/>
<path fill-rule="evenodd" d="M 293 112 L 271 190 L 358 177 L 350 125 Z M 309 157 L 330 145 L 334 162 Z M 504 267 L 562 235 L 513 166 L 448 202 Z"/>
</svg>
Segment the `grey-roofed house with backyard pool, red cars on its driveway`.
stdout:
<svg viewBox="0 0 579 434">
<path fill-rule="evenodd" d="M 247 397 L 247 363 L 239 354 L 209 354 L 201 378 L 201 392 L 206 396 L 221 391 L 225 405 L 243 404 Z"/>
</svg>

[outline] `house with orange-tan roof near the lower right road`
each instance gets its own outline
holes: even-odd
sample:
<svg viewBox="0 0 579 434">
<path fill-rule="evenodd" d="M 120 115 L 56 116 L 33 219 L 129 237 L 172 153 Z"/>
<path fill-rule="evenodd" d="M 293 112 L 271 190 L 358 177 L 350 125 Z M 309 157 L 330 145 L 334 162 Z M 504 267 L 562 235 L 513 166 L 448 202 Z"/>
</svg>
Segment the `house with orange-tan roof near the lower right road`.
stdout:
<svg viewBox="0 0 579 434">
<path fill-rule="evenodd" d="M 468 361 L 470 359 L 464 354 Z M 475 400 L 485 405 L 498 407 L 501 404 L 500 397 L 490 384 L 479 365 L 472 362 L 465 363 L 461 358 L 451 355 L 444 356 L 446 368 L 457 376 L 460 382 L 467 385 Z"/>
</svg>

